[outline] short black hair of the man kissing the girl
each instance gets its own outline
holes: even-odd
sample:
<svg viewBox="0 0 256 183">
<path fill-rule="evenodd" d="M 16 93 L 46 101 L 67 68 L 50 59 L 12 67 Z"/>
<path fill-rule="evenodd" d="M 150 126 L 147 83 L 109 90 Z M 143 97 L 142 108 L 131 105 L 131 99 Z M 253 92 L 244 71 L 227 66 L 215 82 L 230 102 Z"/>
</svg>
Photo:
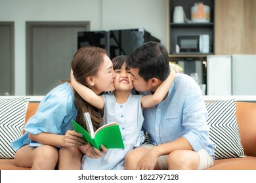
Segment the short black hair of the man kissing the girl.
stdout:
<svg viewBox="0 0 256 183">
<path fill-rule="evenodd" d="M 145 42 L 127 58 L 127 66 L 139 68 L 139 75 L 147 82 L 150 78 L 165 80 L 170 74 L 169 54 L 160 42 Z"/>
</svg>

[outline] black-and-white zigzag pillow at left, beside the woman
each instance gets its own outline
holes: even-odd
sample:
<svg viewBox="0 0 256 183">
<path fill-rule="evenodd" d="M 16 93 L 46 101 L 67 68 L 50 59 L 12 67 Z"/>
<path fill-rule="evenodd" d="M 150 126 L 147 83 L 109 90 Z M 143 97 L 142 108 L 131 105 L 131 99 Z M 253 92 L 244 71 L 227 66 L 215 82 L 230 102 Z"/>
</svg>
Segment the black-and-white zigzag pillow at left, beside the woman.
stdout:
<svg viewBox="0 0 256 183">
<path fill-rule="evenodd" d="M 0 159 L 12 159 L 11 142 L 23 134 L 30 97 L 0 99 Z"/>
</svg>

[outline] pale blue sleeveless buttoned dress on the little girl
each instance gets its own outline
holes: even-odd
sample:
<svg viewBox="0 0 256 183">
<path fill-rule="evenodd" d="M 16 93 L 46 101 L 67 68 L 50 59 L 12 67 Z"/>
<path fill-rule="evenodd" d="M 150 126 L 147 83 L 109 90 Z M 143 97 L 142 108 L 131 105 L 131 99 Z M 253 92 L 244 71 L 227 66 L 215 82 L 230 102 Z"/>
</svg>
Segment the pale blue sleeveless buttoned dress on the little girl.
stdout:
<svg viewBox="0 0 256 183">
<path fill-rule="evenodd" d="M 124 169 L 124 159 L 130 150 L 139 147 L 144 141 L 144 134 L 141 131 L 144 117 L 140 99 L 142 95 L 130 95 L 123 104 L 116 103 L 113 93 L 102 95 L 105 100 L 104 124 L 117 122 L 119 124 L 124 149 L 108 149 L 108 151 L 98 159 L 91 159 L 86 155 L 81 161 L 81 169 Z"/>
</svg>

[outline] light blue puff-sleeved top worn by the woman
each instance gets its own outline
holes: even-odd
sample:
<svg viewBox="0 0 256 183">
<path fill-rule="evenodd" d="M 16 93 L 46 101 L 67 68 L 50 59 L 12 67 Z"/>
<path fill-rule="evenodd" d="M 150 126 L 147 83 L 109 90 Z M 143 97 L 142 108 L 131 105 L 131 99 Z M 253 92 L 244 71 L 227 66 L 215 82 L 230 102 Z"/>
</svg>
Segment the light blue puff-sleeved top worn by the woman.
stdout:
<svg viewBox="0 0 256 183">
<path fill-rule="evenodd" d="M 64 135 L 66 131 L 73 129 L 71 120 L 75 120 L 76 116 L 74 92 L 68 82 L 60 84 L 45 95 L 35 115 L 26 123 L 26 133 L 11 142 L 11 146 L 14 150 L 18 150 L 22 146 L 29 144 L 28 133 L 37 135 L 47 132 Z"/>
</svg>

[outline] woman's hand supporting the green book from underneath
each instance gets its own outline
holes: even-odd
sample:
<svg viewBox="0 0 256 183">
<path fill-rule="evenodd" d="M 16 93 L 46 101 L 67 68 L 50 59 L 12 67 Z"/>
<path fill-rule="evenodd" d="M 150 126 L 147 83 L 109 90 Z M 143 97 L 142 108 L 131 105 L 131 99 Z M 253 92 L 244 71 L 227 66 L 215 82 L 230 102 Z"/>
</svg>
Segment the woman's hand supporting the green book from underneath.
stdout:
<svg viewBox="0 0 256 183">
<path fill-rule="evenodd" d="M 83 152 L 83 154 L 93 159 L 102 157 L 103 154 L 107 151 L 103 145 L 100 146 L 102 149 L 101 151 L 92 147 L 91 144 L 85 144 L 83 146 L 79 146 L 78 148 L 81 152 Z"/>
</svg>

